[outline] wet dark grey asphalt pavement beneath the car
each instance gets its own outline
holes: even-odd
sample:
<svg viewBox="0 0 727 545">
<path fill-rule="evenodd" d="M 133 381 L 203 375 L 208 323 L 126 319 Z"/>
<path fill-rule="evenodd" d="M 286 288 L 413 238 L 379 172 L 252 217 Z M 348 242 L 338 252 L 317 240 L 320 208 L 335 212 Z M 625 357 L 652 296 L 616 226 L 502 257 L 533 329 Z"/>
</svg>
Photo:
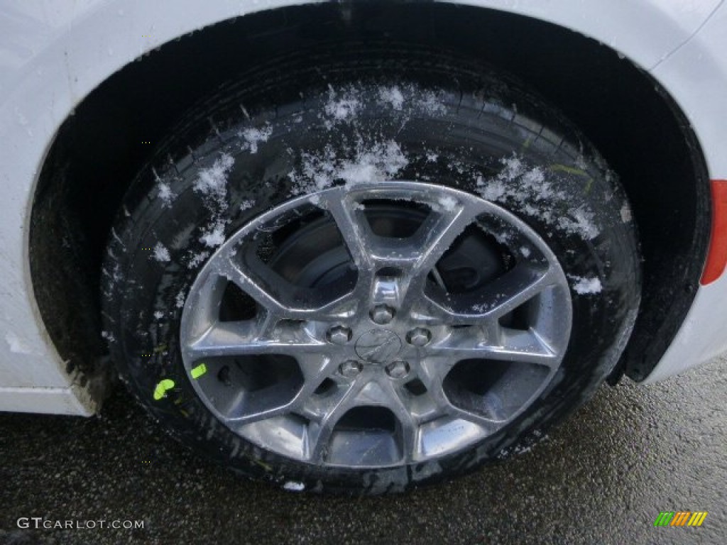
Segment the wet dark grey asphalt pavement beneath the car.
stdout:
<svg viewBox="0 0 727 545">
<path fill-rule="evenodd" d="M 727 359 L 603 387 L 528 453 L 378 498 L 250 483 L 185 451 L 118 387 L 92 419 L 0 413 L 0 544 L 721 545 L 726 451 Z M 654 527 L 680 510 L 709 514 L 700 528 Z M 144 528 L 108 528 L 116 520 Z"/>
</svg>

